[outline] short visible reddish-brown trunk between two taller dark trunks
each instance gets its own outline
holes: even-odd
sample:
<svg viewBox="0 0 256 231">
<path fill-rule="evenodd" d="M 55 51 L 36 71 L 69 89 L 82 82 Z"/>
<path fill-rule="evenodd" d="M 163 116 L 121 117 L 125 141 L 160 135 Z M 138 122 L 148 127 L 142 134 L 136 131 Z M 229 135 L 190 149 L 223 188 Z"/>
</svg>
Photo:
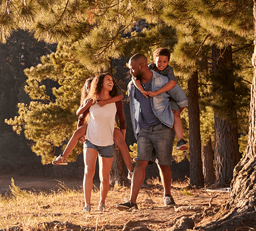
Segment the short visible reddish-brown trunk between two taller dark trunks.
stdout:
<svg viewBox="0 0 256 231">
<path fill-rule="evenodd" d="M 203 177 L 204 184 L 212 184 L 215 181 L 215 173 L 213 166 L 213 151 L 211 147 L 211 139 L 208 143 L 202 146 L 202 162 L 203 162 Z"/>
</svg>

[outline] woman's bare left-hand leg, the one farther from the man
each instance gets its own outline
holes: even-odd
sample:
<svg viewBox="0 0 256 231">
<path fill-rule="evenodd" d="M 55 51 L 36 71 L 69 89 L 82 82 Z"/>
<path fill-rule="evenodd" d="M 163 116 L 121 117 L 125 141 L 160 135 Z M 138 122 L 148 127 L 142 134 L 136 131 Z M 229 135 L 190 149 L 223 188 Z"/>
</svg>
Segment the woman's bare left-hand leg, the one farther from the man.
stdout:
<svg viewBox="0 0 256 231">
<path fill-rule="evenodd" d="M 85 196 L 85 205 L 89 206 L 91 191 L 93 190 L 93 179 L 95 174 L 95 164 L 97 156 L 98 152 L 93 148 L 87 148 L 84 150 L 85 174 L 83 188 Z"/>
</svg>

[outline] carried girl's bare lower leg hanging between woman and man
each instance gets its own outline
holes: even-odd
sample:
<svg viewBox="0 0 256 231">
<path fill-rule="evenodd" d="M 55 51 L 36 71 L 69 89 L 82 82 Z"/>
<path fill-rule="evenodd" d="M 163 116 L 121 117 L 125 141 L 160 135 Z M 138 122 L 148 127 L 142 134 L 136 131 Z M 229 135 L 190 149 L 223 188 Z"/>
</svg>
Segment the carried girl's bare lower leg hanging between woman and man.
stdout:
<svg viewBox="0 0 256 231">
<path fill-rule="evenodd" d="M 131 170 L 134 169 L 132 167 L 130 152 L 126 145 L 124 135 L 122 135 L 122 132 L 118 128 L 115 128 L 115 130 L 114 130 L 114 141 L 115 141 L 117 147 L 120 149 L 122 159 L 124 159 L 126 167 L 130 172 Z"/>
</svg>

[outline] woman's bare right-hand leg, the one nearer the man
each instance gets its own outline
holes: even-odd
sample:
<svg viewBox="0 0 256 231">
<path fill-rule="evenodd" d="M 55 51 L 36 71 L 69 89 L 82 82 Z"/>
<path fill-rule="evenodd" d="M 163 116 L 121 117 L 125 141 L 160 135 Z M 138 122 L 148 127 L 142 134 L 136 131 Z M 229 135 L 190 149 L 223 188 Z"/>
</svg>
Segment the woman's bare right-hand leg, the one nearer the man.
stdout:
<svg viewBox="0 0 256 231">
<path fill-rule="evenodd" d="M 110 169 L 114 157 L 104 158 L 99 156 L 100 202 L 105 204 L 109 190 Z"/>
</svg>

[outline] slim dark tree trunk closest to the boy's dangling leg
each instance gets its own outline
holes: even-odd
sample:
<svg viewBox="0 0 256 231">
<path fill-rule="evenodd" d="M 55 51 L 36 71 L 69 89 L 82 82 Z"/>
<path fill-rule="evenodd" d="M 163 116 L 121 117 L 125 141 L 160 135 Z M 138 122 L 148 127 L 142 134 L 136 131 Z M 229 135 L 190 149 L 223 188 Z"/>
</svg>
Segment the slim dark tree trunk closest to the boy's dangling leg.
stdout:
<svg viewBox="0 0 256 231">
<path fill-rule="evenodd" d="M 198 96 L 198 73 L 194 72 L 188 81 L 189 156 L 190 184 L 203 186 L 201 158 L 200 111 Z"/>
</svg>

